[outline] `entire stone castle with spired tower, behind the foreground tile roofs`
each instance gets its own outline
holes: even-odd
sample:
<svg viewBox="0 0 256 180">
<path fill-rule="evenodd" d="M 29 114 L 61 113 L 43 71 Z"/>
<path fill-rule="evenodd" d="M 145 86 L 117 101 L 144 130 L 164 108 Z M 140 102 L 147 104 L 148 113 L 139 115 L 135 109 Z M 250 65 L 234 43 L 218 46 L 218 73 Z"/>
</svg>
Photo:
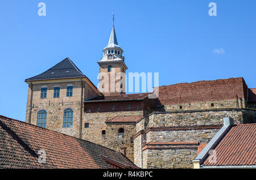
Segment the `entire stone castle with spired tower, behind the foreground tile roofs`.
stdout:
<svg viewBox="0 0 256 180">
<path fill-rule="evenodd" d="M 224 117 L 256 122 L 256 91 L 243 78 L 162 86 L 152 99 L 126 94 L 114 25 L 103 53 L 99 89 L 69 58 L 26 79 L 26 122 L 122 152 L 141 168 L 193 168 Z"/>
</svg>

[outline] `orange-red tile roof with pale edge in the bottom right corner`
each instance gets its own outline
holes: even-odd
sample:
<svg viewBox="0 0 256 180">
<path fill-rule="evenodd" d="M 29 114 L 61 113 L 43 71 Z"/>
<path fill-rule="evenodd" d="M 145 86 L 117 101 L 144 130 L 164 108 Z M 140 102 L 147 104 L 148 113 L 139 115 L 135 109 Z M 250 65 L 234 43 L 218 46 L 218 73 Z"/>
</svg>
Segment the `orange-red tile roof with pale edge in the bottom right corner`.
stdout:
<svg viewBox="0 0 256 180">
<path fill-rule="evenodd" d="M 233 126 L 214 150 L 203 165 L 256 165 L 256 123 Z"/>
</svg>

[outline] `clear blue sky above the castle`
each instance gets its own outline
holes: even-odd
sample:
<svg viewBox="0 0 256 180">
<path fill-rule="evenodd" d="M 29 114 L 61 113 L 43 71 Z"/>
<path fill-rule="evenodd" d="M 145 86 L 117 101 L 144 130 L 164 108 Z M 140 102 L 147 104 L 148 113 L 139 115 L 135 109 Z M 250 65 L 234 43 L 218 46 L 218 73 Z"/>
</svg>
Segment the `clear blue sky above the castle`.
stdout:
<svg viewBox="0 0 256 180">
<path fill-rule="evenodd" d="M 24 121 L 24 79 L 66 57 L 97 85 L 112 11 L 127 72 L 159 72 L 160 85 L 243 77 L 255 88 L 255 9 L 255 0 L 1 1 L 0 114 Z"/>
</svg>

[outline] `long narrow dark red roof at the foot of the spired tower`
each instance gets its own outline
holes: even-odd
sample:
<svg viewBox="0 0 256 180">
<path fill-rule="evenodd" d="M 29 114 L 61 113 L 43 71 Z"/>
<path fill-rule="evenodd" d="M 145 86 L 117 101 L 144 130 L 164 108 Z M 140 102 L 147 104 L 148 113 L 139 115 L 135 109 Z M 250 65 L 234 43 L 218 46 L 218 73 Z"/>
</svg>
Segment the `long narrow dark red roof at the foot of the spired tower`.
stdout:
<svg viewBox="0 0 256 180">
<path fill-rule="evenodd" d="M 92 98 L 85 100 L 85 102 L 106 102 L 106 101 L 133 101 L 143 100 L 148 97 L 151 93 L 137 93 L 137 94 L 123 94 L 123 95 L 109 95 Z"/>
</svg>

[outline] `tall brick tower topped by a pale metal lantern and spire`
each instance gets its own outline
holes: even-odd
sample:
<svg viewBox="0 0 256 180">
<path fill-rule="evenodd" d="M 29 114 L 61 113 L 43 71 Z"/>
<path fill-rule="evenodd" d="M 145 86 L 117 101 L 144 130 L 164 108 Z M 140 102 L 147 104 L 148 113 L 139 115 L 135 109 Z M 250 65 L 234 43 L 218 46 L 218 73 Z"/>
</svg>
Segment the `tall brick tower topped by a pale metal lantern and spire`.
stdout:
<svg viewBox="0 0 256 180">
<path fill-rule="evenodd" d="M 103 58 L 98 61 L 100 66 L 99 89 L 104 95 L 118 95 L 125 93 L 125 57 L 123 50 L 118 45 L 115 35 L 114 16 L 113 27 L 109 38 L 109 44 L 102 50 Z"/>
</svg>

